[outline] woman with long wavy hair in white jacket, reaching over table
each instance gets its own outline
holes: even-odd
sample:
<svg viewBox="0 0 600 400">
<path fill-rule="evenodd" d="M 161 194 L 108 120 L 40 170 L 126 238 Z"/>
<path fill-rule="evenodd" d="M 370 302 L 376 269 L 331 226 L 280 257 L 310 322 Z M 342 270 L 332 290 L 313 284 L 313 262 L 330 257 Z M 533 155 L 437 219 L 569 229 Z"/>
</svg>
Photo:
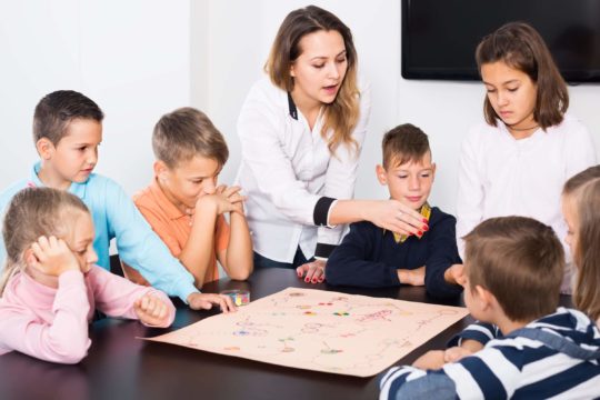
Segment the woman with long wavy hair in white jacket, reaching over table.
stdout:
<svg viewBox="0 0 600 400">
<path fill-rule="evenodd" d="M 256 268 L 298 268 L 318 282 L 343 223 L 369 220 L 412 234 L 428 228 L 399 201 L 349 200 L 370 97 L 357 82 L 347 26 L 314 6 L 292 11 L 264 69 L 268 79 L 252 87 L 238 121 L 238 182 L 248 194 Z"/>
</svg>

